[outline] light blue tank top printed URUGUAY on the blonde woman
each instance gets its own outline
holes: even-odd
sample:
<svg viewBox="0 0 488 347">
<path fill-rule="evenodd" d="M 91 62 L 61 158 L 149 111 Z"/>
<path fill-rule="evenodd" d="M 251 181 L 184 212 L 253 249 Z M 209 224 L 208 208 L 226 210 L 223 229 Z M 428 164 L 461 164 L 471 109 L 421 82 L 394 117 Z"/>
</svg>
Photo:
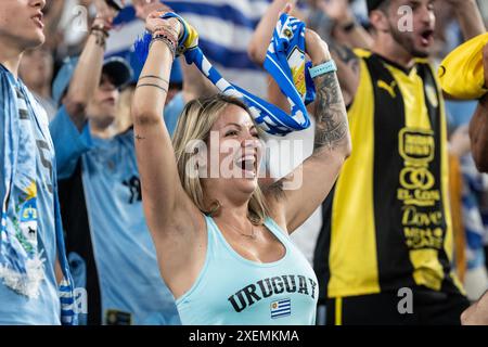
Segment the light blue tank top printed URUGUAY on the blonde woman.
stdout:
<svg viewBox="0 0 488 347">
<path fill-rule="evenodd" d="M 265 226 L 286 253 L 278 261 L 245 259 L 226 241 L 214 219 L 205 265 L 177 300 L 184 325 L 307 325 L 316 322 L 316 273 L 287 234 L 271 219 Z"/>
</svg>

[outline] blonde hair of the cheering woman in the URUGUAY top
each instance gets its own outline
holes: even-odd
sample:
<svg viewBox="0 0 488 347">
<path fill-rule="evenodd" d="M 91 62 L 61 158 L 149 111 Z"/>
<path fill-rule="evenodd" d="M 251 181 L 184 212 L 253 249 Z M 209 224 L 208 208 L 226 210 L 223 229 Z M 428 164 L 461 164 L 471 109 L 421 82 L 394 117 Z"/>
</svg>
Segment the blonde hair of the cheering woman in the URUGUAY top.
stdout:
<svg viewBox="0 0 488 347">
<path fill-rule="evenodd" d="M 244 103 L 239 99 L 223 94 L 216 94 L 189 102 L 179 117 L 172 138 L 172 146 L 175 149 L 181 184 L 198 209 L 210 216 L 219 210 L 220 203 L 218 201 L 206 202 L 201 178 L 188 172 L 189 164 L 192 165 L 195 163 L 197 155 L 196 150 L 189 151 L 188 146 L 193 141 L 207 142 L 211 127 L 219 118 L 221 112 L 231 104 L 242 107 L 251 116 L 249 110 Z M 210 204 L 210 208 L 206 207 L 208 204 Z M 264 194 L 258 185 L 251 196 L 247 206 L 247 217 L 254 224 L 262 224 L 267 216 L 268 208 Z"/>
</svg>

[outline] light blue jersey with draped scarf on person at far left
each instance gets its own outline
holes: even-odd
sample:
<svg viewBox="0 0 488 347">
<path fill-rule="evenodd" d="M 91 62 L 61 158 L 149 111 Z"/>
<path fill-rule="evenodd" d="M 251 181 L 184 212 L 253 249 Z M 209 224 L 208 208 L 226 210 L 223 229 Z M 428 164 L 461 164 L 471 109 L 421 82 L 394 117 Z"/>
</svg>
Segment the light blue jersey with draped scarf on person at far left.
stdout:
<svg viewBox="0 0 488 347">
<path fill-rule="evenodd" d="M 0 324 L 60 324 L 54 150 L 48 117 L 1 65 L 0 79 L 0 198 L 5 207 L 0 233 Z"/>
</svg>

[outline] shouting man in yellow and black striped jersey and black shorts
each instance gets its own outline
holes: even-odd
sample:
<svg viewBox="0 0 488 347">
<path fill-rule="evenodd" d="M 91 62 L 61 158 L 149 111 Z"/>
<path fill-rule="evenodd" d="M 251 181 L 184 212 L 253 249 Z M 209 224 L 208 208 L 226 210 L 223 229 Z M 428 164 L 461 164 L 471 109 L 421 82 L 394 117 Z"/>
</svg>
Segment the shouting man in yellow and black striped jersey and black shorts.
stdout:
<svg viewBox="0 0 488 347">
<path fill-rule="evenodd" d="M 474 0 L 446 2 L 464 38 L 485 30 Z M 349 86 L 359 145 L 323 204 L 319 297 L 328 324 L 460 324 L 468 301 L 451 268 L 444 97 L 427 60 L 441 2 L 367 4 L 374 44 L 355 51 Z"/>
</svg>

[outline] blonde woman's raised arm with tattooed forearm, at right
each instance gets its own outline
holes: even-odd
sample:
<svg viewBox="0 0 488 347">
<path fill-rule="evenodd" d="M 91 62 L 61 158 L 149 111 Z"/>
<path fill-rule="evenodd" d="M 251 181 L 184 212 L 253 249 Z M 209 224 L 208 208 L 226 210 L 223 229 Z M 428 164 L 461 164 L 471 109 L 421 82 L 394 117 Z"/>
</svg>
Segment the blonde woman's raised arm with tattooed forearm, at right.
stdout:
<svg viewBox="0 0 488 347">
<path fill-rule="evenodd" d="M 326 43 L 316 33 L 307 30 L 306 42 L 307 53 L 314 66 L 331 60 Z M 285 223 L 290 233 L 323 202 L 351 151 L 347 113 L 337 75 L 326 73 L 313 81 L 317 89 L 313 154 L 291 175 L 265 191 L 273 217 Z"/>
</svg>

